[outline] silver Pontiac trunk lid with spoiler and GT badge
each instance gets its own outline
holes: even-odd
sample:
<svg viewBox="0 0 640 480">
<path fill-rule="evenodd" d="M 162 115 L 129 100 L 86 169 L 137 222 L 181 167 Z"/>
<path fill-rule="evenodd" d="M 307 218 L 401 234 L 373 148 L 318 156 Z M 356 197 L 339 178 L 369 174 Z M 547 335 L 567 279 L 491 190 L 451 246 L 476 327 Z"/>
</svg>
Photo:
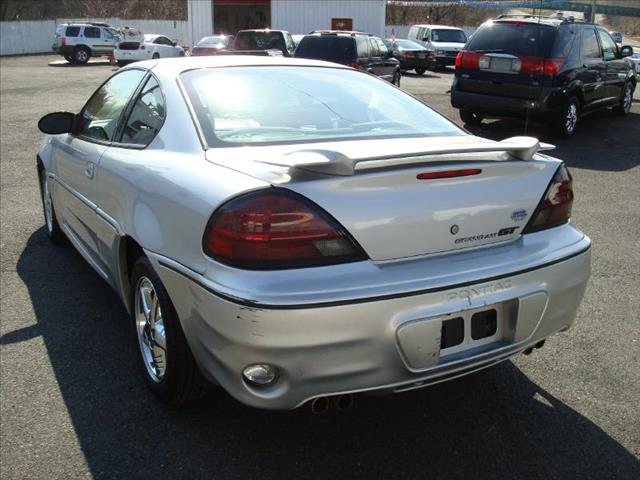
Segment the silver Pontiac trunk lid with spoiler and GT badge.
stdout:
<svg viewBox="0 0 640 480">
<path fill-rule="evenodd" d="M 217 148 L 208 150 L 207 158 L 311 199 L 340 222 L 374 261 L 516 240 L 558 162 L 524 161 L 499 151 L 424 155 L 438 142 L 443 148 L 452 143 L 485 148 L 497 143 L 472 136 L 405 138 Z M 304 155 L 331 152 L 336 158 L 363 161 L 356 163 L 353 174 L 323 174 L 286 167 L 294 162 L 278 160 L 295 158 L 301 150 Z M 480 171 L 453 178 L 417 178 L 462 169 Z"/>
</svg>

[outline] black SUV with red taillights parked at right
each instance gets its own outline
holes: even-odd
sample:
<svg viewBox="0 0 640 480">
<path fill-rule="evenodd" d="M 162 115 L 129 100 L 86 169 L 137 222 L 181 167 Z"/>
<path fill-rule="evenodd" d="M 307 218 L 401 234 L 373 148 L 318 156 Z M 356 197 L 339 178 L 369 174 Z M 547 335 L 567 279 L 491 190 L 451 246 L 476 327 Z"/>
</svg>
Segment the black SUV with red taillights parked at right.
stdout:
<svg viewBox="0 0 640 480">
<path fill-rule="evenodd" d="M 484 116 L 546 118 L 570 136 L 594 110 L 629 112 L 636 78 L 625 57 L 632 54 L 599 25 L 501 16 L 481 25 L 458 54 L 451 104 L 468 124 Z"/>
</svg>

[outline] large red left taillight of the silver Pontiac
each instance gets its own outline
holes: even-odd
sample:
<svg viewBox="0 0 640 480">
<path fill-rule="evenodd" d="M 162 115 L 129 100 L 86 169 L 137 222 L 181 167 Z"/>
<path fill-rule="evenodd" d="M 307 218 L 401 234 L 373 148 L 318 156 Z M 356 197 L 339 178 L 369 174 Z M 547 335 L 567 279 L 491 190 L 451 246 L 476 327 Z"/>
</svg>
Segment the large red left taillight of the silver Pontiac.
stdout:
<svg viewBox="0 0 640 480">
<path fill-rule="evenodd" d="M 329 214 L 306 198 L 268 189 L 231 200 L 211 217 L 204 252 L 247 269 L 300 268 L 365 260 Z"/>
</svg>

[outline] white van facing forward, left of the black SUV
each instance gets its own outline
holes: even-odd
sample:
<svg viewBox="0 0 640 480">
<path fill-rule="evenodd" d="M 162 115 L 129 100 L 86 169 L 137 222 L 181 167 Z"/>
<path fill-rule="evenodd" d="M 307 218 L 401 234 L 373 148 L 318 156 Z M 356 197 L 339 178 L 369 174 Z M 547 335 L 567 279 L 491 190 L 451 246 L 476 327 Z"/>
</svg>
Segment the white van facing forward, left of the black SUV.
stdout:
<svg viewBox="0 0 640 480">
<path fill-rule="evenodd" d="M 464 30 L 444 25 L 413 25 L 408 38 L 435 50 L 437 67 L 454 65 L 458 52 L 467 43 Z"/>
</svg>

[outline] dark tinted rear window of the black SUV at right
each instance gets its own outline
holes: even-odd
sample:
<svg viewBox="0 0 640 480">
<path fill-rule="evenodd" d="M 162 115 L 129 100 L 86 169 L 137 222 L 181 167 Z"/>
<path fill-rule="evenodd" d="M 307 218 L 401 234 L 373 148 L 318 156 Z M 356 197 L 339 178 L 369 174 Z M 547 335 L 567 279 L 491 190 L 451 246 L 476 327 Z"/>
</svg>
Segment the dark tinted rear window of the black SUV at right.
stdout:
<svg viewBox="0 0 640 480">
<path fill-rule="evenodd" d="M 473 34 L 467 50 L 547 57 L 556 28 L 532 23 L 489 22 Z"/>
</svg>

